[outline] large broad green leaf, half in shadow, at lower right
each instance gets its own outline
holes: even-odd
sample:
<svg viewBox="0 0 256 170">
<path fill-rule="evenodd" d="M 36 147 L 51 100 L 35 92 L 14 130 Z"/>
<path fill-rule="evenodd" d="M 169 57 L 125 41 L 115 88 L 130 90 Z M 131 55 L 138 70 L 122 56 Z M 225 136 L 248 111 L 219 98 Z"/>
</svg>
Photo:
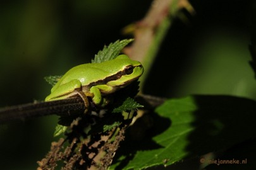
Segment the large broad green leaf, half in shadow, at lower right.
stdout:
<svg viewBox="0 0 256 170">
<path fill-rule="evenodd" d="M 151 115 L 154 127 L 142 140 L 131 139 L 145 125 L 127 132 L 131 136 L 116 153 L 111 169 L 170 166 L 256 137 L 256 102 L 250 99 L 189 96 L 169 99 L 155 111 L 158 115 Z M 200 166 L 200 162 L 196 163 Z"/>
</svg>

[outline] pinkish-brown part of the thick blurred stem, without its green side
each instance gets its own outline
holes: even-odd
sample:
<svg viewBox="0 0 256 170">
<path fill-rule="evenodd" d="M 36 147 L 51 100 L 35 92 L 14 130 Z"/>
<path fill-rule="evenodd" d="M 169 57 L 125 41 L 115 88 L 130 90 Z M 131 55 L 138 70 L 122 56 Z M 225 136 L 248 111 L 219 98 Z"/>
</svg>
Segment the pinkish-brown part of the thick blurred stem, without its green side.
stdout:
<svg viewBox="0 0 256 170">
<path fill-rule="evenodd" d="M 171 6 L 176 6 L 176 8 L 171 8 Z M 170 14 L 174 14 L 182 8 L 186 8 L 190 13 L 194 13 L 192 6 L 187 0 L 153 1 L 151 8 L 145 17 L 133 25 L 133 35 L 135 40 L 130 47 L 124 49 L 125 54 L 130 56 L 131 59 L 143 62 L 147 52 L 149 52 L 150 47 L 154 42 L 156 30 L 159 28 L 162 21 L 168 18 Z"/>
</svg>

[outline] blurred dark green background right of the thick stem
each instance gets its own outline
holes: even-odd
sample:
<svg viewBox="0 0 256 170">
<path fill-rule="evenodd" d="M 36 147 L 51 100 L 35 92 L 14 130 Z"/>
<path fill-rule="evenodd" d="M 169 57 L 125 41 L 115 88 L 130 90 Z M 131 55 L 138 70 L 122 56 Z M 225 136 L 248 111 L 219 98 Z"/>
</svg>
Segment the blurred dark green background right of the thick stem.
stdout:
<svg viewBox="0 0 256 170">
<path fill-rule="evenodd" d="M 254 2 L 190 3 L 195 16 L 178 18 L 173 24 L 145 82 L 150 86 L 145 86 L 144 92 L 166 97 L 231 94 L 255 99 L 256 82 L 248 50 Z M 161 69 L 157 69 L 159 65 Z M 162 74 L 164 83 L 157 88 Z"/>
</svg>

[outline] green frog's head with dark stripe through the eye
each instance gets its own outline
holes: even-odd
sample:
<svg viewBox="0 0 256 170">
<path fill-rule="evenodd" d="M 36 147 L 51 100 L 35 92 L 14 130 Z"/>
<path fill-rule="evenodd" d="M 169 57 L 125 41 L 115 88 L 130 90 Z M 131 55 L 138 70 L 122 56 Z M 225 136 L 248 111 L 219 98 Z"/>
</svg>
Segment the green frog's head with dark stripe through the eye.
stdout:
<svg viewBox="0 0 256 170">
<path fill-rule="evenodd" d="M 107 85 L 123 88 L 131 82 L 137 80 L 143 73 L 142 64 L 136 60 L 131 60 L 127 55 L 119 55 L 114 59 L 118 70 Z M 115 67 L 115 66 L 114 66 Z"/>
</svg>

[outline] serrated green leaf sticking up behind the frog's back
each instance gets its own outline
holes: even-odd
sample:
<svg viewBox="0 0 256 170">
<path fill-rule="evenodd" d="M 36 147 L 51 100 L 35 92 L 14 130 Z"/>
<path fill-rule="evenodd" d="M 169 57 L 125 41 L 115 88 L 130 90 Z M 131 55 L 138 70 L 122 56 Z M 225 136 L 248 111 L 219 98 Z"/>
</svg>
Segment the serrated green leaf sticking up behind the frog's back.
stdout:
<svg viewBox="0 0 256 170">
<path fill-rule="evenodd" d="M 105 45 L 103 50 L 100 50 L 98 54 L 95 55 L 92 63 L 100 63 L 107 60 L 115 59 L 116 57 L 118 57 L 121 50 L 123 50 L 123 48 L 132 41 L 133 39 L 125 39 L 121 41 L 117 40 L 114 43 L 110 43 L 109 46 Z"/>
</svg>

